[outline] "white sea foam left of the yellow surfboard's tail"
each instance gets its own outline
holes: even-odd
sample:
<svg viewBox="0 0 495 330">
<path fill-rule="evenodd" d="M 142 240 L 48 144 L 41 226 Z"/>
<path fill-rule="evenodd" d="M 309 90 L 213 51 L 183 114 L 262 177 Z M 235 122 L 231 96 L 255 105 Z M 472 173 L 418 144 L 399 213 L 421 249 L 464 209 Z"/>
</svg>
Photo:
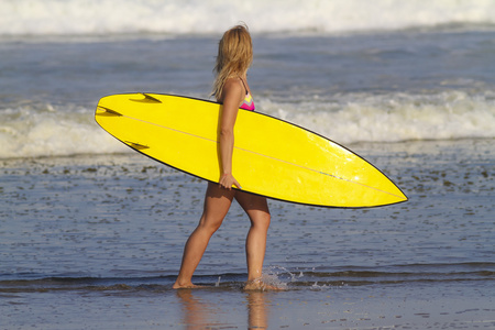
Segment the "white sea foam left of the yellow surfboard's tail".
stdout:
<svg viewBox="0 0 495 330">
<path fill-rule="evenodd" d="M 96 124 L 89 110 L 46 106 L 0 112 L 0 158 L 129 151 Z"/>
</svg>

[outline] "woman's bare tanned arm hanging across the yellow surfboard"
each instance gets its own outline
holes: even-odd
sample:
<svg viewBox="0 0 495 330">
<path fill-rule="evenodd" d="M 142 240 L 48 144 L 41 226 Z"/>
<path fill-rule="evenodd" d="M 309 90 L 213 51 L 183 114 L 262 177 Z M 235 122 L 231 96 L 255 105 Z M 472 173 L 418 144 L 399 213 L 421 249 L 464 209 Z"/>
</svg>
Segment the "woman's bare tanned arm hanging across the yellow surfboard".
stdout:
<svg viewBox="0 0 495 330">
<path fill-rule="evenodd" d="M 238 118 L 239 106 L 243 99 L 243 88 L 238 79 L 229 79 L 223 87 L 223 110 L 220 118 L 220 186 L 231 189 L 232 185 L 241 188 L 241 185 L 232 175 L 232 154 L 234 145 L 234 124 Z"/>
</svg>

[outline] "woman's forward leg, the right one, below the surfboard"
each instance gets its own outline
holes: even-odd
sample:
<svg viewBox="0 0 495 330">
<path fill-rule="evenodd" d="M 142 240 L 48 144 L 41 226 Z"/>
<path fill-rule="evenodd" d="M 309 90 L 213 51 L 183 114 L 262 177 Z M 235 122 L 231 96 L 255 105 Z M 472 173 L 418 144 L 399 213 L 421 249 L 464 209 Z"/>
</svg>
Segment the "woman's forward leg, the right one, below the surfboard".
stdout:
<svg viewBox="0 0 495 330">
<path fill-rule="evenodd" d="M 262 276 L 265 258 L 266 237 L 270 227 L 270 210 L 265 197 L 237 191 L 235 199 L 250 217 L 251 228 L 245 240 L 248 282 Z"/>
</svg>

